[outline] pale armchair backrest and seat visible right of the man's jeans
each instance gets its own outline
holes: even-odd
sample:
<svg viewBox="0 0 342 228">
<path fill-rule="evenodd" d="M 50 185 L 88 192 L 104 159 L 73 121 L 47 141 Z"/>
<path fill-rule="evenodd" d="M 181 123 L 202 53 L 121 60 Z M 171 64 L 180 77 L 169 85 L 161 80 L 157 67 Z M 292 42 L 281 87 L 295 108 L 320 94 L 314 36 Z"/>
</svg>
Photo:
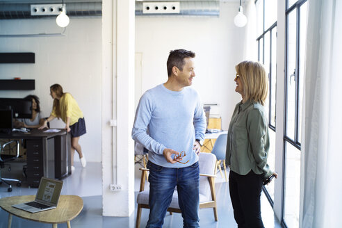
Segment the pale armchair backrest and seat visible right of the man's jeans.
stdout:
<svg viewBox="0 0 342 228">
<path fill-rule="evenodd" d="M 215 175 L 216 156 L 211 153 L 199 154 L 199 173 Z M 208 177 L 199 177 L 199 194 L 211 197 Z"/>
</svg>

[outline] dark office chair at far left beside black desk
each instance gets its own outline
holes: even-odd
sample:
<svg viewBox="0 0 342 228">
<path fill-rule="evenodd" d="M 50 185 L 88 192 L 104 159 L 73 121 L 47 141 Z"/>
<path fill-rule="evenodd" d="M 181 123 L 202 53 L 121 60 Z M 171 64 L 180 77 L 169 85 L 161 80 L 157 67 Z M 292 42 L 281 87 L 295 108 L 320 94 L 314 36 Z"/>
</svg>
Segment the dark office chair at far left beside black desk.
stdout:
<svg viewBox="0 0 342 228">
<path fill-rule="evenodd" d="M 17 144 L 17 154 L 11 155 L 11 154 L 3 154 L 3 151 L 7 145 L 11 145 L 12 143 Z M 8 161 L 13 161 L 19 157 L 19 140 L 11 140 L 9 142 L 4 143 L 0 147 L 0 168 L 5 167 L 5 163 Z M 8 168 L 10 171 L 10 168 Z M 12 186 L 7 181 L 15 181 L 17 182 L 17 186 L 22 185 L 22 181 L 19 181 L 18 179 L 9 179 L 9 178 L 3 178 L 1 177 L 1 170 L 0 170 L 0 184 L 3 182 L 8 185 L 8 192 L 12 192 Z"/>
</svg>

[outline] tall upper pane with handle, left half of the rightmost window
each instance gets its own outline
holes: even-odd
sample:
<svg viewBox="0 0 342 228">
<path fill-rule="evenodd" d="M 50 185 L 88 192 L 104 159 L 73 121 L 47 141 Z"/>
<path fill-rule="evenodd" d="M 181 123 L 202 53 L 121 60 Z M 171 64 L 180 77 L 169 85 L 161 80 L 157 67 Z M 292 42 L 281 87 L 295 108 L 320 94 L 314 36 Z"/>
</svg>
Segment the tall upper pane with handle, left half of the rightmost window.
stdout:
<svg viewBox="0 0 342 228">
<path fill-rule="evenodd" d="M 296 60 L 296 12 L 293 10 L 288 15 L 288 67 L 286 76 L 287 106 L 286 106 L 286 136 L 294 140 L 295 134 L 295 60 Z"/>
</svg>

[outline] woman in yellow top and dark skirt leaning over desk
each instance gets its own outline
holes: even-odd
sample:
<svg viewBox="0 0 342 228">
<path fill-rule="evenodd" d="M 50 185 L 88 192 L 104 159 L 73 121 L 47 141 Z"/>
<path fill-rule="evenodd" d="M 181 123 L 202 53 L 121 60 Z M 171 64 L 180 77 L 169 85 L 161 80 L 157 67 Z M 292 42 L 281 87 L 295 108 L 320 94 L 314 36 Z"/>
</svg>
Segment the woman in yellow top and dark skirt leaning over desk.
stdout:
<svg viewBox="0 0 342 228">
<path fill-rule="evenodd" d="M 86 167 L 86 158 L 82 154 L 81 145 L 79 145 L 79 137 L 86 133 L 86 122 L 84 121 L 83 113 L 76 103 L 76 100 L 70 93 L 63 92 L 62 86 L 54 84 L 50 86 L 50 95 L 54 99 L 54 106 L 51 115 L 44 121 L 40 129 L 46 128 L 47 123 L 58 117 L 65 122 L 65 130 L 71 133 L 71 163 L 72 171 L 74 171 L 74 153 L 79 153 L 79 158 L 82 167 Z"/>
</svg>

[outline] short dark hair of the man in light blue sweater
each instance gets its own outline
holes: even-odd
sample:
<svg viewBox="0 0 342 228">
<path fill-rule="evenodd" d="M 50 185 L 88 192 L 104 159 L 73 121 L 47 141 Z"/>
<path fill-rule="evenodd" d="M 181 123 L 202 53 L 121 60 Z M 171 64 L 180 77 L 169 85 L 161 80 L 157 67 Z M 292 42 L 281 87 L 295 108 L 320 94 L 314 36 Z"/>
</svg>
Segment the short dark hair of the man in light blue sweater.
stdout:
<svg viewBox="0 0 342 228">
<path fill-rule="evenodd" d="M 187 51 L 184 49 L 177 49 L 170 51 L 168 62 L 166 65 L 168 67 L 168 76 L 171 76 L 172 67 L 177 67 L 179 70 L 183 70 L 184 58 L 195 58 L 195 52 Z"/>
</svg>

